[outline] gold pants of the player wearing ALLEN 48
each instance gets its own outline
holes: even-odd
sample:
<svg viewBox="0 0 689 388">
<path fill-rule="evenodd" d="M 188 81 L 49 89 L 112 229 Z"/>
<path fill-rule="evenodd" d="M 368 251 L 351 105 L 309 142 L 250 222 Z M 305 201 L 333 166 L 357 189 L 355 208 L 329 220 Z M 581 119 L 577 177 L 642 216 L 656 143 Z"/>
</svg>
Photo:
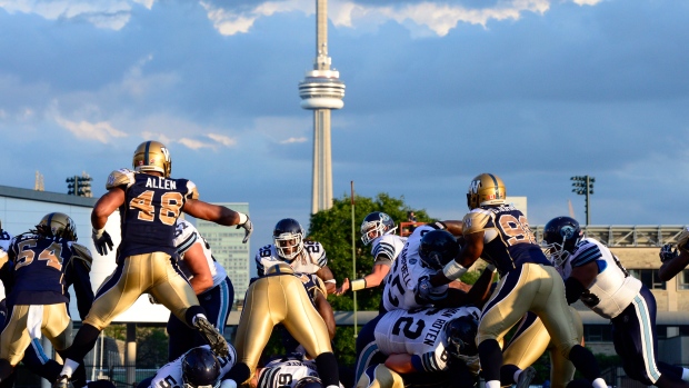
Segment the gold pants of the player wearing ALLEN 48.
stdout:
<svg viewBox="0 0 689 388">
<path fill-rule="evenodd" d="M 83 322 L 102 330 L 146 292 L 182 322 L 187 321 L 187 309 L 199 305 L 191 286 L 172 266 L 170 255 L 134 255 L 127 257 L 103 281 Z"/>
</svg>

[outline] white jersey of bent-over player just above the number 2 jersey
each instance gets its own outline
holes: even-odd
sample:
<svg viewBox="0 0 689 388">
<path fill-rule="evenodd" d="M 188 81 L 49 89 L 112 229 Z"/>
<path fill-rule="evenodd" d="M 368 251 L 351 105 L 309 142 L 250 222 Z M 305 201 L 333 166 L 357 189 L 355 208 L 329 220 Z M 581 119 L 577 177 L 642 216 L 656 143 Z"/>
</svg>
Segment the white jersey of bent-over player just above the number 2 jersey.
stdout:
<svg viewBox="0 0 689 388">
<path fill-rule="evenodd" d="M 419 257 L 421 237 L 436 229 L 437 227 L 430 223 L 420 226 L 407 239 L 402 251 L 386 277 L 386 288 L 382 291 L 382 306 L 386 311 L 431 306 L 431 304 L 420 305 L 413 290 L 422 277 L 430 278 L 436 273 L 436 270 L 423 266 Z M 439 291 L 447 288 L 447 285 L 437 287 Z"/>
</svg>

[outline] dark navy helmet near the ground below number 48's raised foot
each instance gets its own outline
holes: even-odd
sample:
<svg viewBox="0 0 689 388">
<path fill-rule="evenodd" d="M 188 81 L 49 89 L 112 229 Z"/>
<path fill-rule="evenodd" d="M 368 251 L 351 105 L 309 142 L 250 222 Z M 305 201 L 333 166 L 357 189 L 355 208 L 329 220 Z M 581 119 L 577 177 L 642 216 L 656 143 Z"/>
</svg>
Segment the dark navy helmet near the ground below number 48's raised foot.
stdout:
<svg viewBox="0 0 689 388">
<path fill-rule="evenodd" d="M 217 388 L 220 371 L 220 361 L 206 347 L 193 348 L 182 356 L 183 388 Z"/>
</svg>

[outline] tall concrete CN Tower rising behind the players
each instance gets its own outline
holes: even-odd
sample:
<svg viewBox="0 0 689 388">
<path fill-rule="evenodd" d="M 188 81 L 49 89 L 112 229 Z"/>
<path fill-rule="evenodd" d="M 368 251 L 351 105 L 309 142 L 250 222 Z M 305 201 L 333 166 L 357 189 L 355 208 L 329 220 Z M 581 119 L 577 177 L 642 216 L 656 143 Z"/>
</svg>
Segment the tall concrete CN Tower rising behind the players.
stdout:
<svg viewBox="0 0 689 388">
<path fill-rule="evenodd" d="M 299 82 L 301 108 L 313 110 L 313 187 L 311 213 L 332 207 L 330 110 L 344 106 L 344 83 L 330 69 L 328 57 L 328 0 L 316 0 L 316 59 L 313 70 Z"/>
</svg>

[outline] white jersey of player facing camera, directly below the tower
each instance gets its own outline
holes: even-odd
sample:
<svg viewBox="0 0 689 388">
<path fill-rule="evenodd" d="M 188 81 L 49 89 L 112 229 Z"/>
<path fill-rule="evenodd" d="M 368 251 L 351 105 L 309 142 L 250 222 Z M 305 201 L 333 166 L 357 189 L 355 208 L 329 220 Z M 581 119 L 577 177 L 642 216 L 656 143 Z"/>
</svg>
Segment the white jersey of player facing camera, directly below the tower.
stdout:
<svg viewBox="0 0 689 388">
<path fill-rule="evenodd" d="M 328 265 L 328 257 L 326 256 L 326 249 L 320 242 L 309 240 L 303 241 L 303 249 L 292 261 L 284 260 L 278 256 L 278 251 L 272 243 L 260 248 L 256 253 L 258 276 L 263 276 L 268 268 L 280 262 L 290 265 L 294 272 L 316 273 Z"/>
</svg>

